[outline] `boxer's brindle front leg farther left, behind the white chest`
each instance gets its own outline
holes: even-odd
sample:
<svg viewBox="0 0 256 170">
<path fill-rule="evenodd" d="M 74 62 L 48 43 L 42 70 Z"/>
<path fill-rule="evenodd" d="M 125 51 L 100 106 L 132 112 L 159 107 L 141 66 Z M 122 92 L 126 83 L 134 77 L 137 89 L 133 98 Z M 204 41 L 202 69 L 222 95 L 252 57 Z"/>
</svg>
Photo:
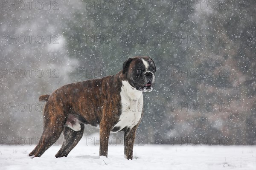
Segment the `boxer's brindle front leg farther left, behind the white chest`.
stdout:
<svg viewBox="0 0 256 170">
<path fill-rule="evenodd" d="M 99 156 L 108 157 L 108 139 L 111 128 L 104 121 L 99 125 Z"/>
</svg>

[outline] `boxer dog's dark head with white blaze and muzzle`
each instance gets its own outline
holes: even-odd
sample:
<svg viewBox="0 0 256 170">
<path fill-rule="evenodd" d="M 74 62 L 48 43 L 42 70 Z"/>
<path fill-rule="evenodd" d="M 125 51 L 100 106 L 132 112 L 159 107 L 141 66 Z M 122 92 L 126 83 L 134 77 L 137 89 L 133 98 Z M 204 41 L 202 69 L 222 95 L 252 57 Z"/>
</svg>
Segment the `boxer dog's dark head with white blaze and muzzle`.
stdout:
<svg viewBox="0 0 256 170">
<path fill-rule="evenodd" d="M 152 91 L 156 66 L 150 57 L 128 58 L 123 64 L 122 74 L 129 84 L 138 91 Z"/>
</svg>

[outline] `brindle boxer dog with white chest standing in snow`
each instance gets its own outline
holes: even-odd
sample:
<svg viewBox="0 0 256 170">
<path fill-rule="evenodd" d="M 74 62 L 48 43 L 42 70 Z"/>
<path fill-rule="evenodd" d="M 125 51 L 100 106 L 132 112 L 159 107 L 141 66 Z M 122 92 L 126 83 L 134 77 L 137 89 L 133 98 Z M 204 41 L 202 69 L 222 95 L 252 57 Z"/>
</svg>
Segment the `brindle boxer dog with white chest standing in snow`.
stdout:
<svg viewBox="0 0 256 170">
<path fill-rule="evenodd" d="M 125 158 L 132 159 L 143 116 L 143 92 L 152 91 L 155 71 L 150 57 L 133 57 L 115 75 L 64 85 L 40 96 L 39 101 L 46 101 L 44 130 L 29 156 L 40 157 L 61 133 L 64 141 L 55 157 L 67 156 L 82 138 L 84 124 L 90 124 L 99 126 L 100 156 L 108 156 L 110 133 L 124 131 Z"/>
</svg>

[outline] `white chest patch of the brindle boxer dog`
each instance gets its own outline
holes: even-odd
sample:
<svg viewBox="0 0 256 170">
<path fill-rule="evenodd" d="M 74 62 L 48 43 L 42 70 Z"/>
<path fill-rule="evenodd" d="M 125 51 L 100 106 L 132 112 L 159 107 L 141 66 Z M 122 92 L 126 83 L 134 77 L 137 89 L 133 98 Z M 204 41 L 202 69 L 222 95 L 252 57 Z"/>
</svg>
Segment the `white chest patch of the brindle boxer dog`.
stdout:
<svg viewBox="0 0 256 170">
<path fill-rule="evenodd" d="M 126 81 L 122 81 L 123 86 L 120 92 L 122 112 L 119 116 L 119 122 L 113 128 L 113 132 L 122 129 L 132 128 L 140 122 L 143 112 L 143 95 L 131 87 Z"/>
</svg>

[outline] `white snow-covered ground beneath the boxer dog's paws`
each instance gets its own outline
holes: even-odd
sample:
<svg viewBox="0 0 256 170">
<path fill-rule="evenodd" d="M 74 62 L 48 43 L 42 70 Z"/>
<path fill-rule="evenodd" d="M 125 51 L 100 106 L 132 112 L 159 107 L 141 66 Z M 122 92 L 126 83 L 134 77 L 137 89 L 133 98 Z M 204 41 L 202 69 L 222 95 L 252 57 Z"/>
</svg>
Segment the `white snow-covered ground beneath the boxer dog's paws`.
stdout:
<svg viewBox="0 0 256 170">
<path fill-rule="evenodd" d="M 83 138 L 84 139 L 84 138 Z M 126 160 L 121 144 L 109 146 L 108 158 L 99 145 L 81 140 L 68 157 L 55 158 L 60 146 L 41 158 L 28 154 L 35 145 L 1 145 L 0 169 L 256 169 L 256 146 L 156 145 L 134 146 L 134 159 Z"/>
</svg>

